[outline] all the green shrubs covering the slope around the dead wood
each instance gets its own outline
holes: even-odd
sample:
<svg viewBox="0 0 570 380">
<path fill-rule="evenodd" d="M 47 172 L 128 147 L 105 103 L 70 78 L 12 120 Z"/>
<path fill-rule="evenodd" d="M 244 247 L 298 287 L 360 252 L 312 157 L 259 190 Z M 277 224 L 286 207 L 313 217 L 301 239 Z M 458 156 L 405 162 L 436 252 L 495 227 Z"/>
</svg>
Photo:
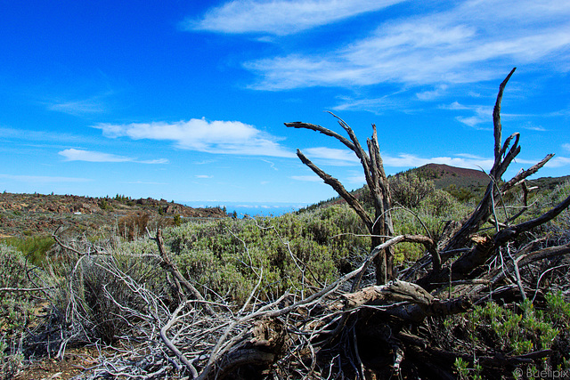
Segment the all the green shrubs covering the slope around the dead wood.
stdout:
<svg viewBox="0 0 570 380">
<path fill-rule="evenodd" d="M 434 182 L 417 180 L 414 173 L 393 179 L 395 189 L 405 189 L 403 195 L 422 194 L 413 199 L 396 197 L 400 205 L 394 216 L 397 233 L 426 230 L 437 236 L 446 222 L 460 220 L 471 211 L 473 199 L 458 196 L 449 191 L 449 186 L 448 190 L 436 189 Z M 535 193 L 526 217 L 542 214 L 569 193 L 567 182 Z M 522 194 L 512 195 L 513 204 L 517 197 Z M 566 210 L 522 237 L 518 244 L 525 245 L 537 236 L 544 242 L 567 244 L 569 231 L 570 214 Z M 295 297 L 311 294 L 353 271 L 368 255 L 370 238 L 366 234 L 360 219 L 346 205 L 315 206 L 277 217 L 206 222 L 183 219 L 180 225 L 163 230 L 164 246 L 183 277 L 208 302 L 224 305 L 236 315 L 245 304 L 255 308 L 252 302 L 263 305 L 283 295 L 292 298 L 282 302 L 293 302 Z M 30 255 L 26 250 L 29 247 L 22 242 L 29 238 L 20 239 L 20 245 L 17 239 L 0 245 L 0 378 L 27 378 L 37 360 L 49 356 L 64 362 L 69 360 L 66 350 L 73 347 L 115 347 L 116 351 L 106 351 L 94 359 L 91 370 L 81 375 L 85 378 L 118 376 L 121 371 L 131 376 L 184 376 L 183 370 L 168 365 L 168 360 L 160 361 L 160 365 L 137 361 L 157 354 L 153 350 L 158 350 L 160 341 L 152 332 L 159 327 L 155 323 L 167 320 L 182 302 L 176 291 L 180 285 L 161 266 L 156 241 L 119 230 L 89 238 L 69 234 L 60 239 L 60 245 L 51 237 L 45 239 L 51 239 L 50 247 L 41 255 Z M 405 271 L 423 254 L 424 248 L 418 244 L 397 246 L 398 270 Z M 517 371 L 533 374 L 547 369 L 570 371 L 568 262 L 563 257 L 541 265 L 542 270 L 521 273 L 525 284 L 535 289 L 532 299 L 523 301 L 512 292 L 512 303 L 504 303 L 503 298 L 501 305 L 485 303 L 467 314 L 432 317 L 422 324 L 423 333 L 416 333 L 426 336 L 442 355 L 454 355 L 449 373 L 458 378 L 512 378 Z M 373 283 L 373 273 L 368 271 L 363 281 Z M 157 321 L 145 319 L 149 299 L 144 292 L 156 297 L 157 312 L 164 313 L 157 314 Z M 255 295 L 253 301 L 251 295 Z M 366 360 L 371 346 L 362 342 L 360 348 L 360 356 Z M 164 349 L 160 350 L 157 355 L 164 357 Z M 550 354 L 533 360 L 534 352 L 544 350 Z M 117 353 L 125 351 L 131 352 L 133 360 Z M 485 352 L 505 357 L 529 355 L 529 359 L 498 374 L 496 368 L 477 361 Z M 321 364 L 316 366 L 320 368 Z M 390 363 L 384 366 L 391 368 Z M 335 367 L 346 376 L 358 376 L 349 361 L 339 359 Z M 278 369 L 281 376 L 296 377 L 295 368 Z M 425 372 L 427 368 L 414 366 L 404 371 L 405 376 L 412 377 L 429 373 Z M 316 369 L 312 373 L 314 378 L 326 377 Z"/>
</svg>

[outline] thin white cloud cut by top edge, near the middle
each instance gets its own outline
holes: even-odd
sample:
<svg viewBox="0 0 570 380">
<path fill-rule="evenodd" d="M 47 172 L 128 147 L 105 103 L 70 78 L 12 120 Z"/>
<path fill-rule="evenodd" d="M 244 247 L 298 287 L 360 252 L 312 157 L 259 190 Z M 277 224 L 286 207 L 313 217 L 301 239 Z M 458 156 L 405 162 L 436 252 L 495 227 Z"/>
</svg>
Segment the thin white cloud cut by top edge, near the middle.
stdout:
<svg viewBox="0 0 570 380">
<path fill-rule="evenodd" d="M 219 33 L 267 33 L 284 36 L 330 24 L 405 0 L 234 0 L 209 10 L 182 28 Z"/>
</svg>

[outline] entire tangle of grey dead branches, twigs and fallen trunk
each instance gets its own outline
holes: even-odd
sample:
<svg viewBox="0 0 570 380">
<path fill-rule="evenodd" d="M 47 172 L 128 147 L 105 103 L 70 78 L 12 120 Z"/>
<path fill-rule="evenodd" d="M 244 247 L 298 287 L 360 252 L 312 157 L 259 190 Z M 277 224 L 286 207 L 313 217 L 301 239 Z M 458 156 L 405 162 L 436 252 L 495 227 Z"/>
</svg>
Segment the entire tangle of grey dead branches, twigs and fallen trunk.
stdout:
<svg viewBox="0 0 570 380">
<path fill-rule="evenodd" d="M 514 69 L 509 77 L 513 72 Z M 338 180 L 297 152 L 362 217 L 374 235 L 370 255 L 354 271 L 321 289 L 304 289 L 303 295 L 284 294 L 267 302 L 257 297 L 260 281 L 247 302 L 238 308 L 224 300 L 205 299 L 169 257 L 158 230 L 152 237 L 157 254 L 148 260 L 167 272 L 170 301 L 165 301 L 165 294 L 145 287 L 118 269 L 113 260 L 98 262 L 135 300 L 125 303 L 102 288 L 102 297 L 122 311 L 126 332 L 119 336 L 116 354 L 103 358 L 99 366 L 91 368 L 89 376 L 455 378 L 454 363 L 465 360 L 470 365 L 483 366 L 486 376 L 509 377 L 517 366 L 551 360 L 554 348 L 536 348 L 524 354 L 498 352 L 483 343 L 469 344 L 468 339 L 457 336 L 453 344 L 440 344 L 442 336 L 451 333 L 440 326 L 439 317 L 461 315 L 490 300 L 540 300 L 546 274 L 567 268 L 567 263 L 556 261 L 570 253 L 568 239 L 528 239 L 528 233 L 563 213 L 570 206 L 570 197 L 525 222 L 517 219 L 529 205 L 523 205 L 517 214 L 500 209 L 501 198 L 509 190 L 520 186 L 526 195 L 525 179 L 552 157 L 549 155 L 502 182 L 501 176 L 521 149 L 518 133 L 501 141 L 501 99 L 509 77 L 500 86 L 493 112 L 495 160 L 490 182 L 484 198 L 467 220 L 449 223 L 439 239 L 395 234 L 376 128 L 368 141 L 367 154 L 352 129 L 340 119 L 350 140 L 319 125 L 288 124 L 335 137 L 361 159 L 374 197 L 373 216 Z M 491 229 L 486 229 L 486 225 Z M 526 239 L 521 239 L 523 236 Z M 396 276 L 392 248 L 403 242 L 423 245 L 426 255 Z M 78 250 L 75 253 L 84 260 L 93 255 Z M 376 269 L 376 285 L 363 284 L 363 274 L 369 267 Z M 261 280 L 263 268 L 256 269 L 256 273 Z M 73 300 L 69 305 L 68 323 L 81 325 L 85 315 Z M 63 346 L 60 352 L 64 352 Z M 566 358 L 570 354 L 567 346 L 560 350 Z"/>
</svg>

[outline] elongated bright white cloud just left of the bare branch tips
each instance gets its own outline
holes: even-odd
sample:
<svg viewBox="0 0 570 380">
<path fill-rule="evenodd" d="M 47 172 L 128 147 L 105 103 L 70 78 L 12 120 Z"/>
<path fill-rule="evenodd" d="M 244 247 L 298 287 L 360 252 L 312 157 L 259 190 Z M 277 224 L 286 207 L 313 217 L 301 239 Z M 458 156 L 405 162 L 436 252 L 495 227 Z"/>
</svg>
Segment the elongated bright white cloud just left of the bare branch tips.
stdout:
<svg viewBox="0 0 570 380">
<path fill-rule="evenodd" d="M 126 125 L 99 124 L 106 137 L 133 140 L 174 141 L 183 150 L 248 156 L 294 157 L 279 144 L 279 138 L 239 121 L 208 121 L 192 118 L 175 123 L 153 122 Z"/>
</svg>

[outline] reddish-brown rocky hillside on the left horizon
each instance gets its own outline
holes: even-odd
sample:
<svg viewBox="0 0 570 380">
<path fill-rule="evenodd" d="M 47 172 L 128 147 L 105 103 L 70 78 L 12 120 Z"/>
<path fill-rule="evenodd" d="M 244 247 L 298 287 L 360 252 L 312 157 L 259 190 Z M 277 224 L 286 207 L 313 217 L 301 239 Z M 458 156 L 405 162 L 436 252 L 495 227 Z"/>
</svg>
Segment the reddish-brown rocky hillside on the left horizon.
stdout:
<svg viewBox="0 0 570 380">
<path fill-rule="evenodd" d="M 175 215 L 183 218 L 223 218 L 220 207 L 193 208 L 165 199 L 91 198 L 75 195 L 0 194 L 0 238 L 51 234 L 57 228 L 83 233 L 112 228 L 118 221 L 136 215 L 161 224 Z"/>
</svg>

